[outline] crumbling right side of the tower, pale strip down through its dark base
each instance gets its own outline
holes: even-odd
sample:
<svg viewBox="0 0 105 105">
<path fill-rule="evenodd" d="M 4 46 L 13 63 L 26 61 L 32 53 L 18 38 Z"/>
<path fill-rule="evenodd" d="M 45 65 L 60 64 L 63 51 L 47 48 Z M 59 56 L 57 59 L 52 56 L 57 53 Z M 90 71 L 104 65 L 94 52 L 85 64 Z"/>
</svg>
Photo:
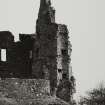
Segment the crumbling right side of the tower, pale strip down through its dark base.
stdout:
<svg viewBox="0 0 105 105">
<path fill-rule="evenodd" d="M 57 91 L 56 95 L 69 102 L 71 93 L 71 81 L 70 81 L 70 56 L 68 48 L 69 46 L 68 29 L 66 25 L 59 24 L 57 31 Z"/>
</svg>

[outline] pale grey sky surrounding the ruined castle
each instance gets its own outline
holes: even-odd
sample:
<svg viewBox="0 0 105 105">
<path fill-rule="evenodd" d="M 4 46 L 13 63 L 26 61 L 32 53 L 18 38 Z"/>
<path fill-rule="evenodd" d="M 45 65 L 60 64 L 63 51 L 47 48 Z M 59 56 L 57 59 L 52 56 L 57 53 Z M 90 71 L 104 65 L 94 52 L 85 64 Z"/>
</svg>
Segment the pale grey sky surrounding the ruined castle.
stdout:
<svg viewBox="0 0 105 105">
<path fill-rule="evenodd" d="M 40 0 L 0 0 L 0 31 L 34 33 Z M 105 0 L 52 0 L 72 43 L 76 98 L 105 81 Z"/>
</svg>

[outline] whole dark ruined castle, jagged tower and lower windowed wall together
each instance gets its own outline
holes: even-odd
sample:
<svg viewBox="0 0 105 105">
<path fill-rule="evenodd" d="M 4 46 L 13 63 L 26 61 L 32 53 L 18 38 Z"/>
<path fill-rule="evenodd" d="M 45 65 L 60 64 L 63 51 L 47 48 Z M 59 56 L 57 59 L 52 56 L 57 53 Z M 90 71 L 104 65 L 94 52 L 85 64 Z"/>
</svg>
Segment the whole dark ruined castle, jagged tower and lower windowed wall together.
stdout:
<svg viewBox="0 0 105 105">
<path fill-rule="evenodd" d="M 72 46 L 67 26 L 55 22 L 55 10 L 51 7 L 50 0 L 40 0 L 36 33 L 19 34 L 19 39 L 20 41 L 14 42 L 10 32 L 0 32 L 0 48 L 6 49 L 7 57 L 7 61 L 0 61 L 0 76 L 36 79 L 35 81 L 21 80 L 27 89 L 33 86 L 30 81 L 38 83 L 40 79 L 43 83 L 47 81 L 46 86 L 51 96 L 69 102 L 74 88 L 74 81 L 71 80 Z M 20 86 L 19 81 L 15 80 Z M 27 87 L 27 84 L 30 86 Z M 38 88 L 45 89 L 45 85 L 39 85 Z M 40 94 L 39 91 L 37 92 Z"/>
</svg>

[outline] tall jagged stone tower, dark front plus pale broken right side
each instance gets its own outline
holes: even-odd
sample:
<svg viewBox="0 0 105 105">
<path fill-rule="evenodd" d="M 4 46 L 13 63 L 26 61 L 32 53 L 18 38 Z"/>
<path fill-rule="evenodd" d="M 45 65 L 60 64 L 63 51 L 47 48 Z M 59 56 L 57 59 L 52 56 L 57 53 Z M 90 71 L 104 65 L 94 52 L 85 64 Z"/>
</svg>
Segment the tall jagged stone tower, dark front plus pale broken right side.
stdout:
<svg viewBox="0 0 105 105">
<path fill-rule="evenodd" d="M 52 95 L 63 79 L 69 81 L 68 48 L 67 26 L 55 23 L 55 10 L 50 0 L 40 0 L 32 74 L 35 78 L 50 80 Z"/>
</svg>

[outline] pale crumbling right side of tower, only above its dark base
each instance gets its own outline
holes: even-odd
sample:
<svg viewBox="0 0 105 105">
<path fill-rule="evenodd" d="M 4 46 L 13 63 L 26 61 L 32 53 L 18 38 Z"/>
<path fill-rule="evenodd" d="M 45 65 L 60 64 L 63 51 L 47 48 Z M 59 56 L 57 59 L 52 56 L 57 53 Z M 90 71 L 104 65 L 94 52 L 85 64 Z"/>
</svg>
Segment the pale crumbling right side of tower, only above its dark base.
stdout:
<svg viewBox="0 0 105 105">
<path fill-rule="evenodd" d="M 70 56 L 68 52 L 69 39 L 68 30 L 65 25 L 58 25 L 57 32 L 57 72 L 58 82 L 62 80 L 62 75 L 65 74 L 69 78 L 69 63 Z M 59 83 L 58 83 L 59 84 Z"/>
</svg>

